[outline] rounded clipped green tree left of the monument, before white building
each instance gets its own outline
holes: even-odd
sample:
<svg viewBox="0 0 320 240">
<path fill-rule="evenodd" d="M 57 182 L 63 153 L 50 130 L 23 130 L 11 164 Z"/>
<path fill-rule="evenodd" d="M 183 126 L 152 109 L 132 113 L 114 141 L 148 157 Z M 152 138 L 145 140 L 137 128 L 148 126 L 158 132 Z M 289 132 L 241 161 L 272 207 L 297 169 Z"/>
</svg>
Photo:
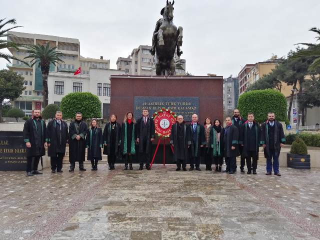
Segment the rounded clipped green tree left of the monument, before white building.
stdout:
<svg viewBox="0 0 320 240">
<path fill-rule="evenodd" d="M 83 118 L 100 118 L 101 101 L 91 92 L 71 92 L 62 98 L 60 110 L 66 118 L 73 118 L 76 112 Z"/>
</svg>

